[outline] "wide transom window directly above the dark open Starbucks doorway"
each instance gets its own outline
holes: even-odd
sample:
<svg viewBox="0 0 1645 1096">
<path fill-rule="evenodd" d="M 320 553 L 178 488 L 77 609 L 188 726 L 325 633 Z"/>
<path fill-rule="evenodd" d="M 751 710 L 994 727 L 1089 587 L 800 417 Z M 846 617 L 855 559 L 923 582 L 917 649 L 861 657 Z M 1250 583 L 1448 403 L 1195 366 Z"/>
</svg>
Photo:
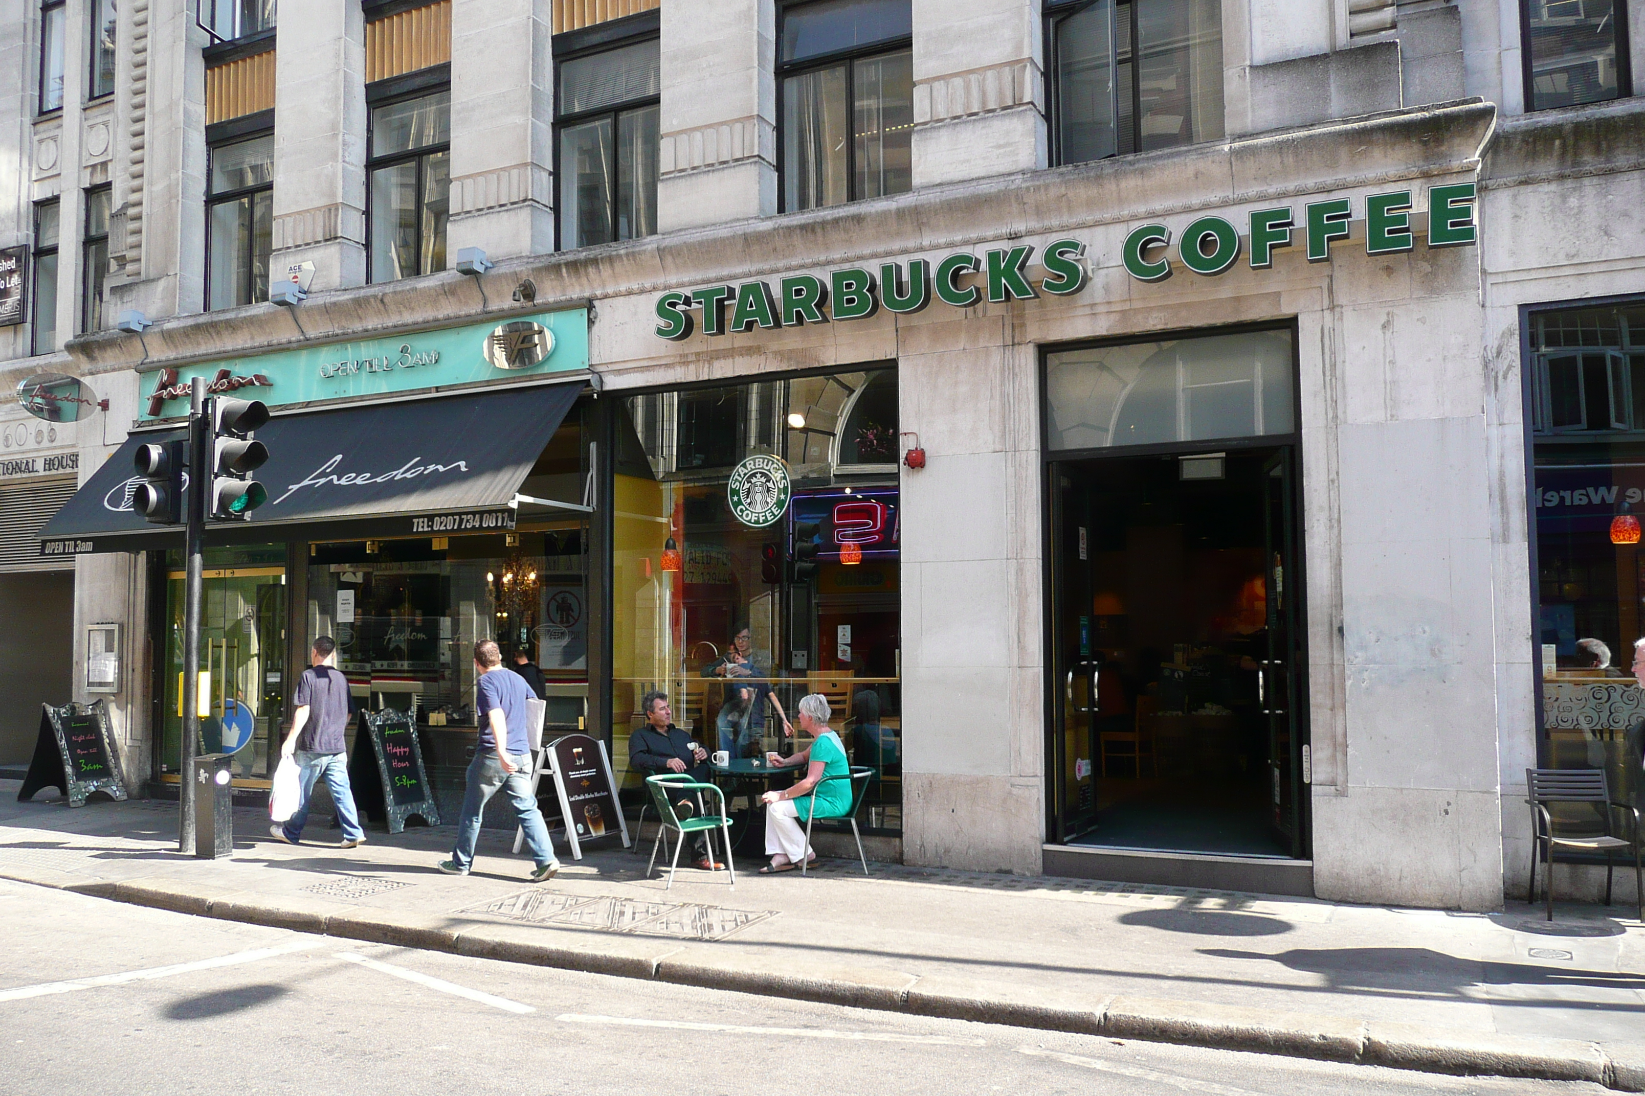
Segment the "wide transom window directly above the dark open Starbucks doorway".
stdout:
<svg viewBox="0 0 1645 1096">
<path fill-rule="evenodd" d="M 1288 332 L 1198 335 L 1046 358 L 1050 449 L 1290 434 Z"/>
</svg>

